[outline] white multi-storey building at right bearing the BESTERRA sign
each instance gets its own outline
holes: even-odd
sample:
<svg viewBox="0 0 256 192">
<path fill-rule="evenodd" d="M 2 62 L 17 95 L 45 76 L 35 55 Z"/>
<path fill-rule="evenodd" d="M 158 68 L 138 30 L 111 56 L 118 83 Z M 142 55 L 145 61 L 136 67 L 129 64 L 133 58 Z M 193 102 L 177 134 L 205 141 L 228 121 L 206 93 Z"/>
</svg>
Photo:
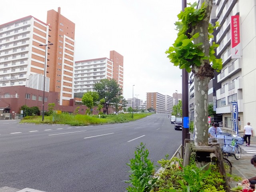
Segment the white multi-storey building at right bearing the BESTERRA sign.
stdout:
<svg viewBox="0 0 256 192">
<path fill-rule="evenodd" d="M 232 128 L 230 102 L 237 101 L 238 127 L 242 129 L 247 122 L 256 125 L 256 1 L 216 0 L 216 6 L 216 17 L 220 23 L 215 37 L 220 44 L 216 54 L 223 61 L 223 68 L 217 76 L 221 88 L 216 90 L 216 113 L 222 114 L 224 127 Z M 237 24 L 240 26 L 240 58 L 234 58 L 231 47 L 231 36 L 239 30 L 231 30 L 231 16 L 236 15 L 240 20 Z"/>
</svg>

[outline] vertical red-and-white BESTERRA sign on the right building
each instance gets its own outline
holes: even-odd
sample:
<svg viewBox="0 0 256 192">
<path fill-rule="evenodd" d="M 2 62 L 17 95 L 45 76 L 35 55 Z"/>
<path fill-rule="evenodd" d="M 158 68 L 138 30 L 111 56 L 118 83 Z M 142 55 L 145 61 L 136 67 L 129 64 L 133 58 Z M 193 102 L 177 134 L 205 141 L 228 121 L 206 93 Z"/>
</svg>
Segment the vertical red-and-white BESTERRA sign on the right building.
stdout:
<svg viewBox="0 0 256 192">
<path fill-rule="evenodd" d="M 231 58 L 241 58 L 239 15 L 231 16 Z"/>
</svg>

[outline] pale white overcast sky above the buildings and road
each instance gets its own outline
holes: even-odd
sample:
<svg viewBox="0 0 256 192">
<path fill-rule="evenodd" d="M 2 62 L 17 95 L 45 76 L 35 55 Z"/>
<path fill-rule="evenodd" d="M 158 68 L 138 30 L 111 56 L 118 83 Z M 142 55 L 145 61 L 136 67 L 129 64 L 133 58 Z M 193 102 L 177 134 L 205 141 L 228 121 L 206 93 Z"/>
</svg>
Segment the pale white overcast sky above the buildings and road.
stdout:
<svg viewBox="0 0 256 192">
<path fill-rule="evenodd" d="M 187 0 L 194 2 L 196 0 Z M 6 0 L 0 24 L 32 15 L 46 22 L 47 11 L 76 24 L 75 61 L 124 56 L 124 97 L 146 100 L 146 92 L 182 92 L 182 71 L 164 53 L 174 43 L 174 22 L 182 0 Z M 138 96 L 136 96 L 138 94 Z"/>
</svg>

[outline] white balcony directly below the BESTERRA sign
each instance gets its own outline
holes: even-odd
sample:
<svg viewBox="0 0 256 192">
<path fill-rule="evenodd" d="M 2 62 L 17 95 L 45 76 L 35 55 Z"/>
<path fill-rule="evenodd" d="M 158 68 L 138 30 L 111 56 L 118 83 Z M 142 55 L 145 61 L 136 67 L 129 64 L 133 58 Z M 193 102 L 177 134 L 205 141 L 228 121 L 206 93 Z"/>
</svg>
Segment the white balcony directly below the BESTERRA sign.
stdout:
<svg viewBox="0 0 256 192">
<path fill-rule="evenodd" d="M 230 66 L 228 66 L 224 71 L 222 71 L 217 76 L 218 83 L 223 82 L 230 76 L 236 74 L 238 71 L 242 69 L 242 65 L 239 63 L 238 59 L 235 60 Z"/>
</svg>

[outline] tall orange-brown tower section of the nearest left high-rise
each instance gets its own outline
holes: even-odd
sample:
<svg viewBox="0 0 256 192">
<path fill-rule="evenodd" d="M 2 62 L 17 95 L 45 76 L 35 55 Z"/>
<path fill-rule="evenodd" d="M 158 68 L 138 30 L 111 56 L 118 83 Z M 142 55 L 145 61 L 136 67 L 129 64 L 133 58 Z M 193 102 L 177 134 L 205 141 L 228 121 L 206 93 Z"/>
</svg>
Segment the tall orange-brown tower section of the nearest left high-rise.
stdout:
<svg viewBox="0 0 256 192">
<path fill-rule="evenodd" d="M 60 7 L 58 12 L 47 12 L 47 24 L 52 30 L 50 41 L 53 43 L 48 46 L 50 90 L 59 93 L 60 105 L 69 105 L 73 98 L 75 24 L 60 14 Z"/>
</svg>

